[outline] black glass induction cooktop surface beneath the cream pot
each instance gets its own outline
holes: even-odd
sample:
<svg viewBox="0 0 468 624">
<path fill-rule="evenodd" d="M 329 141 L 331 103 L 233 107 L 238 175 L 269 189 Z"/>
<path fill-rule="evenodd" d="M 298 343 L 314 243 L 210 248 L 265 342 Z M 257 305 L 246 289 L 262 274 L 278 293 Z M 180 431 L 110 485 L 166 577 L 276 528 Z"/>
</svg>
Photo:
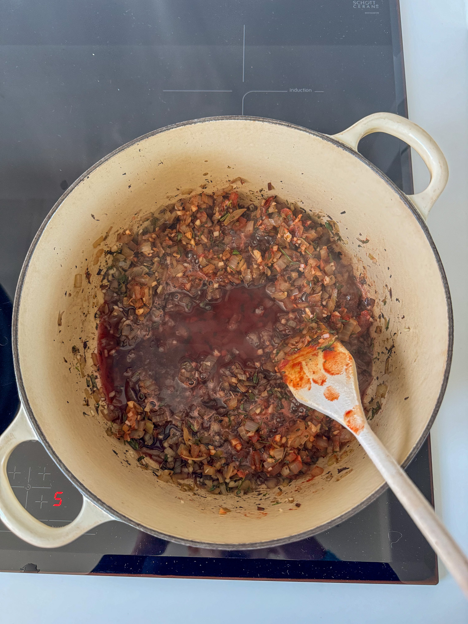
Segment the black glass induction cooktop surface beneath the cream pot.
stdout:
<svg viewBox="0 0 468 624">
<path fill-rule="evenodd" d="M 364 115 L 407 109 L 397 0 L 1 5 L 3 431 L 17 405 L 7 295 L 47 212 L 90 165 L 139 135 L 199 117 L 255 115 L 333 134 Z M 406 144 L 373 134 L 359 150 L 412 192 Z M 60 526 L 78 514 L 81 495 L 39 442 L 17 447 L 7 471 L 36 518 Z M 429 441 L 408 473 L 431 500 Z M 0 570 L 437 582 L 434 552 L 391 492 L 315 537 L 245 552 L 185 547 L 121 522 L 41 550 L 0 524 Z"/>
</svg>

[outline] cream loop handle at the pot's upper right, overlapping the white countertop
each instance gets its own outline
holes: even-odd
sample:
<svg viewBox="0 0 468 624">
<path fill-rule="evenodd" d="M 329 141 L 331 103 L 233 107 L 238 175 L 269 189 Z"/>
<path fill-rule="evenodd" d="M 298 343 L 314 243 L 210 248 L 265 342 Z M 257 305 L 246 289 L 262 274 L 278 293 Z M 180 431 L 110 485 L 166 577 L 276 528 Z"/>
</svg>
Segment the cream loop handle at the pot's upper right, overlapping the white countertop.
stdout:
<svg viewBox="0 0 468 624">
<path fill-rule="evenodd" d="M 334 134 L 333 139 L 341 141 L 357 152 L 359 141 L 373 132 L 385 132 L 401 139 L 416 150 L 424 160 L 431 174 L 431 182 L 422 193 L 407 195 L 407 197 L 426 220 L 449 178 L 449 167 L 439 145 L 419 125 L 393 113 L 374 113 L 363 117 L 343 132 Z"/>
</svg>

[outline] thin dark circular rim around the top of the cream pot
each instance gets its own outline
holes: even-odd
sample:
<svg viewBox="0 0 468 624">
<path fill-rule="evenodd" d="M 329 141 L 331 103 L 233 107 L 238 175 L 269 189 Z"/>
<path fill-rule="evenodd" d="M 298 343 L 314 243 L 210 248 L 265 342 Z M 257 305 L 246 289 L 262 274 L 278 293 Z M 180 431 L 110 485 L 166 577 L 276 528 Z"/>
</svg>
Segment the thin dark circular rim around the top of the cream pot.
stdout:
<svg viewBox="0 0 468 624">
<path fill-rule="evenodd" d="M 154 529 L 149 529 L 149 527 L 145 527 L 145 525 L 142 525 L 139 522 L 136 522 L 135 520 L 128 518 L 127 516 L 125 516 L 124 514 L 120 512 L 117 512 L 115 509 L 110 507 L 110 505 L 105 504 L 101 499 L 99 499 L 92 492 L 90 492 L 90 490 L 87 489 L 87 487 L 84 484 L 82 484 L 74 474 L 72 474 L 72 472 L 65 466 L 61 458 L 56 454 L 54 449 L 52 449 L 51 445 L 49 444 L 49 441 L 47 441 L 47 437 L 44 435 L 44 432 L 42 432 L 42 429 L 39 426 L 39 423 L 36 421 L 36 417 L 34 416 L 34 413 L 32 412 L 29 401 L 27 400 L 26 389 L 24 388 L 23 379 L 21 375 L 21 367 L 19 364 L 18 319 L 19 319 L 19 308 L 21 306 L 22 290 L 24 286 L 24 281 L 26 279 L 27 270 L 29 268 L 29 263 L 31 261 L 32 255 L 34 251 L 36 250 L 37 243 L 39 242 L 42 236 L 42 233 L 46 229 L 48 223 L 50 222 L 51 218 L 54 216 L 56 211 L 59 209 L 59 207 L 61 207 L 64 200 L 81 182 L 83 182 L 83 180 L 87 178 L 87 176 L 89 176 L 90 173 L 94 172 L 94 170 L 100 167 L 100 165 L 107 162 L 107 160 L 110 160 L 110 158 L 114 157 L 115 155 L 120 154 L 120 152 L 123 152 L 128 147 L 132 147 L 132 145 L 138 144 L 142 140 L 149 139 L 150 137 L 154 137 L 157 134 L 162 134 L 163 132 L 167 132 L 168 130 L 181 128 L 187 125 L 205 124 L 205 123 L 212 122 L 212 121 L 248 121 L 248 122 L 263 122 L 263 123 L 272 124 L 272 125 L 280 125 L 286 128 L 293 129 L 293 130 L 300 130 L 301 132 L 305 132 L 306 134 L 313 135 L 314 137 L 317 137 L 318 139 L 322 139 L 328 143 L 335 145 L 339 149 L 342 149 L 345 152 L 348 152 L 349 154 L 353 155 L 355 158 L 358 158 L 359 160 L 361 160 L 361 162 L 363 162 L 374 173 L 376 173 L 376 175 L 378 175 L 391 188 L 391 190 L 394 193 L 396 193 L 396 195 L 402 200 L 402 202 L 410 210 L 412 215 L 416 218 L 416 221 L 417 223 L 419 223 L 419 226 L 421 227 L 422 232 L 424 232 L 424 235 L 426 236 L 427 241 L 429 245 L 431 246 L 432 253 L 434 254 L 434 257 L 436 258 L 437 267 L 439 268 L 439 273 L 441 275 L 441 280 L 444 286 L 444 293 L 446 297 L 447 321 L 448 321 L 447 359 L 446 359 L 446 364 L 445 364 L 445 369 L 444 369 L 444 376 L 443 376 L 442 384 L 441 384 L 441 390 L 439 392 L 439 396 L 437 397 L 436 405 L 434 406 L 434 409 L 432 410 L 432 414 L 431 414 L 431 417 L 429 418 L 429 421 L 427 422 L 427 426 L 425 427 L 424 431 L 422 432 L 421 436 L 417 440 L 414 447 L 411 449 L 411 452 L 409 452 L 406 459 L 404 459 L 404 461 L 402 462 L 401 464 L 402 468 L 406 468 L 408 464 L 411 462 L 411 460 L 414 458 L 414 456 L 416 456 L 416 453 L 421 448 L 422 443 L 426 440 L 426 437 L 429 434 L 429 431 L 431 430 L 432 424 L 434 423 L 434 420 L 436 419 L 437 412 L 439 412 L 439 409 L 441 407 L 442 399 L 444 398 L 444 394 L 447 388 L 447 383 L 448 383 L 451 363 L 452 363 L 452 351 L 453 351 L 453 340 L 454 340 L 454 319 L 453 319 L 452 300 L 451 300 L 451 294 L 449 290 L 449 284 L 447 282 L 446 273 L 444 271 L 444 266 L 442 265 L 442 261 L 439 256 L 439 252 L 437 251 L 436 245 L 434 244 L 434 241 L 432 240 L 432 236 L 431 236 L 431 233 L 429 232 L 429 229 L 427 228 L 426 222 L 422 218 L 417 208 L 414 207 L 409 197 L 407 197 L 407 195 L 403 193 L 396 186 L 396 184 L 392 182 L 385 175 L 385 173 L 383 173 L 378 167 L 373 165 L 373 163 L 369 162 L 367 158 L 364 158 L 363 155 L 359 154 L 359 152 L 356 152 L 355 150 L 351 149 L 351 147 L 348 147 L 348 145 L 345 145 L 339 142 L 338 140 L 334 139 L 333 137 L 329 135 L 323 134 L 321 132 L 316 132 L 316 130 L 310 130 L 300 125 L 290 124 L 289 122 L 284 122 L 284 121 L 280 121 L 276 119 L 266 119 L 264 117 L 249 117 L 246 115 L 221 115 L 218 117 L 203 117 L 201 119 L 188 120 L 185 122 L 167 125 L 163 128 L 153 130 L 152 132 L 148 132 L 147 134 L 137 137 L 137 139 L 134 139 L 128 143 L 125 143 L 124 145 L 121 145 L 113 152 L 110 152 L 110 154 L 107 154 L 106 156 L 104 156 L 104 158 L 101 158 L 100 160 L 98 160 L 97 163 L 95 163 L 94 165 L 92 165 L 92 167 L 90 167 L 84 173 L 82 173 L 82 175 L 80 175 L 80 177 L 77 178 L 77 180 L 74 183 L 72 183 L 72 185 L 69 188 L 67 188 L 66 192 L 63 193 L 63 195 L 59 198 L 59 200 L 57 200 L 57 202 L 54 204 L 51 211 L 47 214 L 47 217 L 42 222 L 41 227 L 39 228 L 39 230 L 36 233 L 36 236 L 34 236 L 34 239 L 32 240 L 31 246 L 29 247 L 29 250 L 27 251 L 26 258 L 21 268 L 21 273 L 19 275 L 19 280 L 17 283 L 16 292 L 14 296 L 13 316 L 12 316 L 12 348 L 13 348 L 14 372 L 16 376 L 16 383 L 18 386 L 18 392 L 19 392 L 19 396 L 21 399 L 21 403 L 22 403 L 22 406 L 24 407 L 24 410 L 26 411 L 29 421 L 31 422 L 32 428 L 36 432 L 38 439 L 42 442 L 43 446 L 46 448 L 46 451 L 52 457 L 52 459 L 57 464 L 57 466 L 66 475 L 66 477 L 69 480 L 71 480 L 72 484 L 75 485 L 77 490 L 79 490 L 80 494 L 82 494 L 83 497 L 92 501 L 97 507 L 99 507 L 99 509 L 107 512 L 107 514 L 111 515 L 116 520 L 125 522 L 125 524 L 129 524 L 132 527 L 135 527 L 135 529 L 138 529 L 150 535 L 154 535 L 155 537 L 158 537 L 160 539 L 170 541 L 170 542 L 178 542 L 179 544 L 184 544 L 187 546 L 195 546 L 198 548 L 200 547 L 212 548 L 215 550 L 253 550 L 255 548 L 270 548 L 273 546 L 289 544 L 290 542 L 303 540 L 308 537 L 312 537 L 313 535 L 322 533 L 328 529 L 331 529 L 331 527 L 334 527 L 336 524 L 339 524 L 339 522 L 343 522 L 344 520 L 347 520 L 354 514 L 357 514 L 359 511 L 367 507 L 371 502 L 377 499 L 379 495 L 383 494 L 383 492 L 388 488 L 388 484 L 384 483 L 383 485 L 381 485 L 381 487 L 379 487 L 372 494 L 366 497 L 366 499 L 362 500 L 358 505 L 355 505 L 352 509 L 334 518 L 333 520 L 330 520 L 329 522 L 325 522 L 324 524 L 321 524 L 318 527 L 315 527 L 314 529 L 303 531 L 299 534 L 290 535 L 288 537 L 282 537 L 276 540 L 268 540 L 268 542 L 253 542 L 253 543 L 249 542 L 247 544 L 243 544 L 243 543 L 214 544 L 212 542 L 198 542 L 197 540 L 179 539 L 179 538 L 173 537 L 172 535 L 167 535 L 162 532 L 158 532 Z"/>
</svg>

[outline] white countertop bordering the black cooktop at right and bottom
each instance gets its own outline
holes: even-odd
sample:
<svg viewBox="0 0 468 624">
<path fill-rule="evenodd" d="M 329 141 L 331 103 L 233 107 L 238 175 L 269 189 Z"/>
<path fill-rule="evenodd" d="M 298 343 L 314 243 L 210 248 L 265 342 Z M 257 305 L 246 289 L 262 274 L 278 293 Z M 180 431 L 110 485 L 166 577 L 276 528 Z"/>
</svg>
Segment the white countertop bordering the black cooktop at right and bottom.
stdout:
<svg viewBox="0 0 468 624">
<path fill-rule="evenodd" d="M 455 317 L 452 372 L 431 440 L 436 510 L 468 552 L 468 6 L 464 0 L 400 3 L 409 117 L 434 137 L 450 168 L 427 222 Z M 413 170 L 417 192 L 428 178 L 419 157 Z M 127 624 L 135 618 L 198 624 L 212 617 L 273 624 L 466 624 L 468 601 L 440 568 L 436 586 L 2 573 L 0 617 L 6 624 Z"/>
</svg>

